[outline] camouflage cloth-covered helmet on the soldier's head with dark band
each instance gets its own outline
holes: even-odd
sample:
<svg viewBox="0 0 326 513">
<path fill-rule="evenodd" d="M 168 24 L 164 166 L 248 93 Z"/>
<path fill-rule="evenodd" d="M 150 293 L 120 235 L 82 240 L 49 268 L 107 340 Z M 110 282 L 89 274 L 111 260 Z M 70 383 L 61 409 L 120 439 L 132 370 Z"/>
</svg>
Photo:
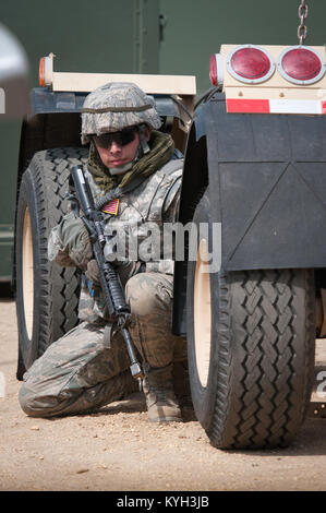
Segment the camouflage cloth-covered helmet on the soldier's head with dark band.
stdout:
<svg viewBox="0 0 326 513">
<path fill-rule="evenodd" d="M 117 132 L 125 127 L 146 123 L 158 129 L 161 120 L 155 102 L 129 82 L 110 82 L 90 93 L 82 109 L 82 144 L 89 135 Z"/>
</svg>

